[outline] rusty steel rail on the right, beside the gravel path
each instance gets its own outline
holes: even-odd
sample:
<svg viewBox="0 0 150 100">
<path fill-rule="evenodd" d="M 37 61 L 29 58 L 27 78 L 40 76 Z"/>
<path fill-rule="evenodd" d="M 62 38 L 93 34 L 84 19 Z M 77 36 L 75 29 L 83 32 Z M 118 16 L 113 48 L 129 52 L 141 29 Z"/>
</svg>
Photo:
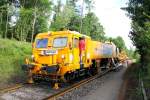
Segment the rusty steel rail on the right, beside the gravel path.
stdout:
<svg viewBox="0 0 150 100">
<path fill-rule="evenodd" d="M 82 80 L 82 81 L 80 81 L 78 83 L 75 83 L 75 84 L 69 86 L 68 88 L 66 88 L 66 89 L 64 89 L 64 90 L 62 90 L 60 92 L 57 92 L 57 93 L 55 93 L 53 95 L 50 95 L 50 96 L 44 98 L 43 100 L 55 100 L 59 96 L 62 96 L 62 95 L 66 94 L 66 93 L 68 93 L 68 92 L 70 92 L 70 91 L 72 91 L 72 90 L 74 90 L 76 88 L 79 88 L 82 85 L 85 85 L 85 84 L 87 84 L 87 83 L 89 83 L 89 82 L 91 82 L 91 81 L 93 81 L 93 80 L 95 80 L 97 78 L 100 78 L 101 76 L 105 75 L 109 71 L 110 70 L 107 70 L 107 71 L 105 71 L 103 73 L 97 74 L 95 76 L 91 76 L 91 77 L 89 77 L 87 79 L 84 79 L 84 80 Z"/>
</svg>

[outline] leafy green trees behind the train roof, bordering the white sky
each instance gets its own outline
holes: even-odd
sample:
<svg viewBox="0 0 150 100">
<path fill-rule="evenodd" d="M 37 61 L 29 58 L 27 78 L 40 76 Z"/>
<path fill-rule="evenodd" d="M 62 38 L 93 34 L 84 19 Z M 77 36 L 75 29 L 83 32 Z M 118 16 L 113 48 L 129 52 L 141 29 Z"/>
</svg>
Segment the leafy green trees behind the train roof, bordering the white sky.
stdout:
<svg viewBox="0 0 150 100">
<path fill-rule="evenodd" d="M 86 5 L 92 5 L 91 0 L 84 0 Z M 90 9 L 92 6 L 90 7 Z M 71 18 L 70 22 L 68 23 L 68 29 L 70 30 L 75 30 L 79 31 L 82 34 L 91 36 L 92 39 L 102 41 L 104 40 L 104 28 L 100 24 L 97 16 L 89 11 L 86 15 L 81 16 L 80 13 L 78 12 L 80 10 L 75 10 L 74 16 Z M 81 22 L 82 21 L 82 22 Z M 82 24 L 82 25 L 81 25 Z"/>
</svg>

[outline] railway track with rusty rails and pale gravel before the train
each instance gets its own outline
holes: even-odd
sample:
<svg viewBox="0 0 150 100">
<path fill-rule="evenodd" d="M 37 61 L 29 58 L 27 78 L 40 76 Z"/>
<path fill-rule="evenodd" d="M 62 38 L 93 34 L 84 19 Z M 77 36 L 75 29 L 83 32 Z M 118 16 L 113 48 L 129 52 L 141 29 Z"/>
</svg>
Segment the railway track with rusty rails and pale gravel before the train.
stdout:
<svg viewBox="0 0 150 100">
<path fill-rule="evenodd" d="M 59 90 L 54 90 L 54 89 L 47 88 L 47 87 L 46 87 L 47 89 L 43 89 L 43 90 L 37 89 L 36 90 L 36 88 L 38 88 L 38 87 L 36 87 L 36 85 L 16 84 L 15 86 L 0 90 L 0 94 L 4 94 L 3 95 L 4 100 L 10 100 L 10 98 L 11 99 L 19 98 L 18 100 L 20 100 L 20 99 L 21 100 L 41 100 L 41 99 L 42 100 L 55 100 L 59 96 L 63 96 L 64 94 L 95 80 L 95 79 L 103 76 L 104 74 L 108 73 L 109 71 L 110 70 L 105 71 L 105 72 L 95 75 L 95 76 L 91 76 L 89 78 L 81 80 L 77 83 L 73 83 L 72 85 L 66 86 Z M 28 88 L 28 87 L 31 87 L 31 88 Z M 22 89 L 22 88 L 25 88 L 25 89 Z M 43 86 L 41 86 L 41 88 L 43 88 Z M 30 89 L 32 91 L 30 91 Z M 38 92 L 36 92 L 36 91 L 38 91 Z M 47 92 L 45 92 L 45 91 L 47 91 Z M 12 96 L 10 96 L 10 94 Z M 21 94 L 21 96 L 19 94 Z M 22 97 L 23 95 L 24 95 L 24 97 Z M 37 97 L 32 98 L 31 96 L 37 96 Z M 43 98 L 43 97 L 45 97 L 45 98 Z"/>
</svg>

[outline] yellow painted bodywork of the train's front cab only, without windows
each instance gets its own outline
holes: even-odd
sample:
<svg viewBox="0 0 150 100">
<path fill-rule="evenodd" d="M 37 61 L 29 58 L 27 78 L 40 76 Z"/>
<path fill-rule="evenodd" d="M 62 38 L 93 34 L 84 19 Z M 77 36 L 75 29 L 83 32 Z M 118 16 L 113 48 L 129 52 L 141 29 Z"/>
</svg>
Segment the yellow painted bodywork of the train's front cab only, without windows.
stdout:
<svg viewBox="0 0 150 100">
<path fill-rule="evenodd" d="M 79 39 L 79 37 L 85 37 L 86 43 L 90 43 L 91 38 L 82 34 L 79 34 L 78 32 L 74 31 L 58 31 L 58 32 L 47 32 L 47 33 L 40 33 L 36 36 L 35 42 L 33 44 L 33 51 L 32 54 L 34 56 L 34 61 L 32 64 L 35 65 L 34 69 L 32 70 L 32 73 L 34 74 L 43 74 L 43 72 L 40 71 L 41 67 L 44 65 L 47 66 L 53 66 L 53 65 L 59 65 L 59 71 L 57 74 L 63 76 L 67 72 L 72 72 L 77 69 L 80 69 L 79 64 L 79 48 L 75 48 L 73 46 L 73 39 Z M 63 48 L 54 48 L 53 47 L 53 39 L 58 37 L 67 37 L 67 45 Z M 37 39 L 43 39 L 48 38 L 48 46 L 46 48 L 36 48 L 36 40 Z M 86 44 L 86 47 L 87 44 Z M 55 49 L 57 50 L 57 54 L 54 55 L 48 55 L 43 56 L 40 55 L 40 53 L 43 50 L 50 50 Z M 89 67 L 91 65 L 91 62 L 89 61 L 87 63 L 87 52 L 89 52 L 89 49 L 86 49 L 83 53 L 83 63 L 85 67 Z M 62 58 L 64 56 L 64 58 Z M 44 73 L 47 74 L 47 73 Z"/>
</svg>

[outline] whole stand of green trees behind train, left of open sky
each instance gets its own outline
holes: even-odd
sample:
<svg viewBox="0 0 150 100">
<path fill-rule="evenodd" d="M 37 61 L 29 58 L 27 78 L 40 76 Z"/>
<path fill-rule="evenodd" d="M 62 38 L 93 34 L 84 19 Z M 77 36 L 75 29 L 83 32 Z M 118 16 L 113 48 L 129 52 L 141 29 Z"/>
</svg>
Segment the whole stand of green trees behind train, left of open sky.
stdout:
<svg viewBox="0 0 150 100">
<path fill-rule="evenodd" d="M 69 29 L 104 40 L 93 0 L 1 0 L 0 36 L 33 42 L 36 34 Z M 86 13 L 85 13 L 86 12 Z"/>
</svg>

